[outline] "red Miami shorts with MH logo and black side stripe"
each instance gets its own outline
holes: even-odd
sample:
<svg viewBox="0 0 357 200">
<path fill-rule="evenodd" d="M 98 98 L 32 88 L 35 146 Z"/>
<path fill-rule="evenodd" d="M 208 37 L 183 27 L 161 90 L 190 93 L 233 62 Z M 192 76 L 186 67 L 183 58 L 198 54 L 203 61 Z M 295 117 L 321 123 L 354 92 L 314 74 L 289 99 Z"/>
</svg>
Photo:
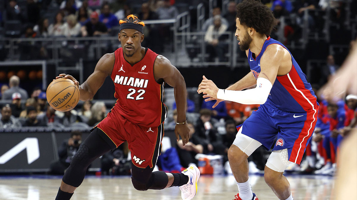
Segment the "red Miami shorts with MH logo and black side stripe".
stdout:
<svg viewBox="0 0 357 200">
<path fill-rule="evenodd" d="M 123 142 L 128 142 L 131 151 L 131 161 L 139 168 L 152 168 L 161 153 L 161 140 L 164 136 L 164 125 L 158 127 L 142 127 L 129 122 L 121 115 L 108 114 L 97 128 L 101 129 L 108 137 L 108 143 L 118 147 Z M 113 147 L 114 147 L 113 145 Z"/>
</svg>

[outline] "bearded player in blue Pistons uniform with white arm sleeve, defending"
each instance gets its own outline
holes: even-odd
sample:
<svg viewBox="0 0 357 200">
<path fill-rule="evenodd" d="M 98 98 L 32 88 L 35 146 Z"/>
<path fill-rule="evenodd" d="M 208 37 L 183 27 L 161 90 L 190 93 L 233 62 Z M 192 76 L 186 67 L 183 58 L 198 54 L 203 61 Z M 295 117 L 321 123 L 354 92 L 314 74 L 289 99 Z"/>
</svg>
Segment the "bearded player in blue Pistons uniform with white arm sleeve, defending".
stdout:
<svg viewBox="0 0 357 200">
<path fill-rule="evenodd" d="M 246 51 L 251 72 L 227 89 L 218 89 L 203 76 L 197 92 L 205 94 L 205 101 L 216 100 L 213 107 L 224 100 L 261 104 L 237 127 L 228 150 L 239 190 L 236 200 L 258 200 L 249 183 L 247 158 L 260 145 L 267 150 L 273 145 L 264 170 L 266 183 L 280 200 L 293 200 L 283 172 L 290 163 L 300 164 L 311 139 L 319 107 L 316 96 L 290 51 L 268 36 L 275 26 L 268 7 L 259 1 L 242 1 L 237 5 L 236 26 L 235 35 L 240 49 Z"/>
</svg>

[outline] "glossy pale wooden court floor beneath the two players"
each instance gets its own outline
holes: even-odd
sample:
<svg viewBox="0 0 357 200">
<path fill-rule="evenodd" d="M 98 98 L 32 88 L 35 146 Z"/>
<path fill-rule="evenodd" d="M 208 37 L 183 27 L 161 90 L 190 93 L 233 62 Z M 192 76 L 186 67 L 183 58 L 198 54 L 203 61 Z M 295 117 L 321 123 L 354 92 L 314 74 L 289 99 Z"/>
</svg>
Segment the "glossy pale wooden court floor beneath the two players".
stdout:
<svg viewBox="0 0 357 200">
<path fill-rule="evenodd" d="M 332 200 L 333 178 L 287 176 L 294 200 Z M 261 175 L 250 175 L 259 200 L 278 200 Z M 54 200 L 59 176 L 1 176 L 0 200 Z M 193 200 L 230 200 L 238 192 L 233 176 L 204 176 L 198 181 Z M 136 191 L 129 176 L 87 176 L 71 200 L 181 200 L 178 187 Z"/>
</svg>

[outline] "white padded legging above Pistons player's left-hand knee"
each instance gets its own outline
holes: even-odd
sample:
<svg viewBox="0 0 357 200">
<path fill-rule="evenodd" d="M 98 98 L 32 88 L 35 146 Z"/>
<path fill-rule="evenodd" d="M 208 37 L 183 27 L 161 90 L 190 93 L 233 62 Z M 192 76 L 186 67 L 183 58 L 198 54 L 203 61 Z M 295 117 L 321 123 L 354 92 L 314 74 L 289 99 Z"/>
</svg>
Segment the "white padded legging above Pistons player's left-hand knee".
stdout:
<svg viewBox="0 0 357 200">
<path fill-rule="evenodd" d="M 249 157 L 258 147 L 262 145 L 262 143 L 251 137 L 248 137 L 245 134 L 242 134 L 242 129 L 243 127 L 239 129 L 233 144 L 239 147 L 242 152 L 247 154 L 247 156 Z"/>
</svg>

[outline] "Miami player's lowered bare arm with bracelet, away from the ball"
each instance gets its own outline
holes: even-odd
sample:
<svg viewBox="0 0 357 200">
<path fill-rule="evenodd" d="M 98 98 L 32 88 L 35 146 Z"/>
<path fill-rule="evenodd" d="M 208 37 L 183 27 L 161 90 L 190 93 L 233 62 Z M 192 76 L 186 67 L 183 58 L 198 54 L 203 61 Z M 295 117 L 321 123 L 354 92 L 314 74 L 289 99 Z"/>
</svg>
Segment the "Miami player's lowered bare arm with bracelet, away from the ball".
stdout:
<svg viewBox="0 0 357 200">
<path fill-rule="evenodd" d="M 171 65 L 171 62 L 164 56 L 157 56 L 154 64 L 154 77 L 156 82 L 160 83 L 165 81 L 171 87 L 174 87 L 176 110 L 177 110 L 177 122 L 186 121 L 186 83 L 185 79 L 176 67 Z M 190 128 L 187 123 L 176 124 L 175 134 L 177 141 L 180 139 L 178 135 L 181 135 L 182 144 L 185 145 L 190 139 Z"/>
</svg>

